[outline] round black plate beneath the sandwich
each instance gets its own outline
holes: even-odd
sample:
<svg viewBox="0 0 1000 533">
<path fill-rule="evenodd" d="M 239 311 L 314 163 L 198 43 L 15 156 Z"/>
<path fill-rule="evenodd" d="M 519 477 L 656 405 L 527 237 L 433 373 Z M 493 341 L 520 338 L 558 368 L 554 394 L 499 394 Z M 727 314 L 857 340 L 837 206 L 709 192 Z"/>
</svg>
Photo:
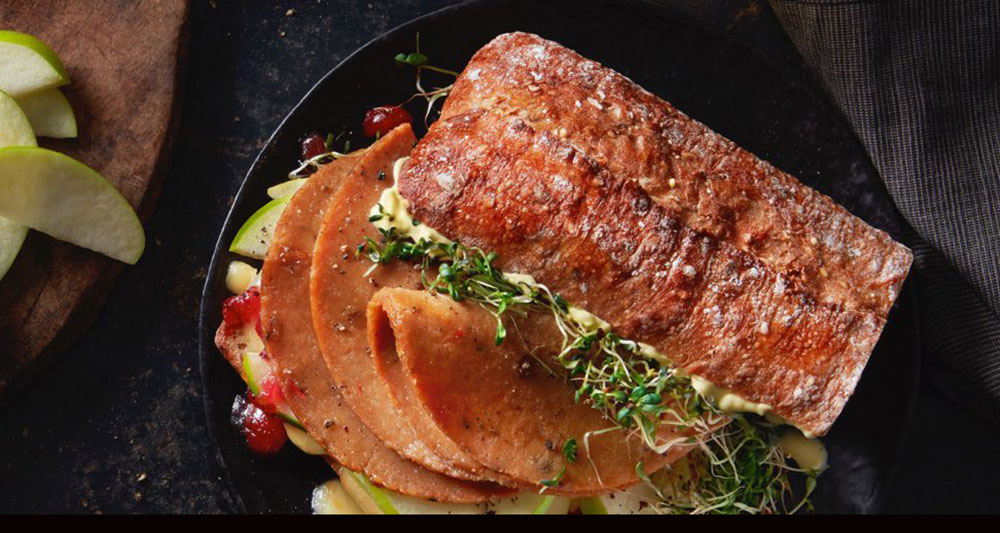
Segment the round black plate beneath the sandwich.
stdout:
<svg viewBox="0 0 1000 533">
<path fill-rule="evenodd" d="M 833 197 L 870 224 L 900 237 L 901 223 L 864 149 L 850 128 L 797 66 L 774 65 L 729 34 L 706 30 L 662 6 L 641 1 L 485 1 L 416 19 L 375 39 L 330 71 L 288 115 L 261 151 L 219 237 L 201 307 L 201 367 L 206 410 L 219 459 L 248 512 L 307 512 L 315 484 L 331 477 L 319 459 L 286 450 L 261 460 L 228 423 L 233 397 L 244 390 L 212 343 L 219 324 L 228 245 L 265 201 L 265 190 L 297 161 L 309 131 L 345 131 L 355 147 L 365 110 L 398 103 L 413 92 L 414 73 L 393 56 L 421 51 L 460 70 L 480 46 L 507 31 L 556 40 L 631 77 L 693 118 L 806 184 Z M 417 104 L 414 116 L 422 115 Z M 420 129 L 420 128 L 418 128 Z M 419 132 L 418 132 L 419 133 Z M 912 290 L 904 286 L 854 397 L 824 439 L 831 468 L 813 498 L 821 512 L 876 512 L 900 457 L 917 376 Z M 292 448 L 292 447 L 289 447 Z"/>
</svg>

